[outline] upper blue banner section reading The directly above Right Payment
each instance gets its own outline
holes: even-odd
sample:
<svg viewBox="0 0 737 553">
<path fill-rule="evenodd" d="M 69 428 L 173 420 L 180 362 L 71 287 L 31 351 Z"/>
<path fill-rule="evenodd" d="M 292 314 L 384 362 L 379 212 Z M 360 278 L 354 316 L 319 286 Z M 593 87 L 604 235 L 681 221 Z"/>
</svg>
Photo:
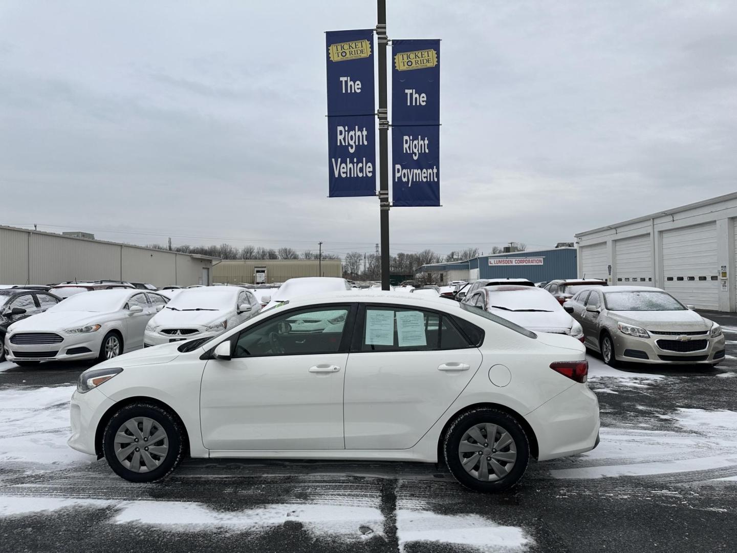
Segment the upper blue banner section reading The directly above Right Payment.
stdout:
<svg viewBox="0 0 737 553">
<path fill-rule="evenodd" d="M 391 124 L 440 124 L 440 41 L 391 41 Z"/>
</svg>

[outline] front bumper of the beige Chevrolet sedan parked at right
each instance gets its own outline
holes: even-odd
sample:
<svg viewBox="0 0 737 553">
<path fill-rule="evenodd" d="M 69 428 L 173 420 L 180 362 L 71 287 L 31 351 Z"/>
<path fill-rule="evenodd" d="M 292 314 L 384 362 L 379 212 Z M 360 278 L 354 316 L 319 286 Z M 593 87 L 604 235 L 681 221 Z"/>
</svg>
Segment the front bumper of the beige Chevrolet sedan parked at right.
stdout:
<svg viewBox="0 0 737 553">
<path fill-rule="evenodd" d="M 724 359 L 724 335 L 709 338 L 705 335 L 688 336 L 688 340 L 680 341 L 680 335 L 650 335 L 650 338 L 638 338 L 622 333 L 612 336 L 617 359 L 646 364 L 708 364 L 716 365 Z M 660 347 L 659 341 L 676 342 L 677 344 L 693 343 L 705 340 L 706 347 L 693 352 L 678 352 L 667 347 Z M 663 344 L 663 342 L 661 342 Z"/>
</svg>

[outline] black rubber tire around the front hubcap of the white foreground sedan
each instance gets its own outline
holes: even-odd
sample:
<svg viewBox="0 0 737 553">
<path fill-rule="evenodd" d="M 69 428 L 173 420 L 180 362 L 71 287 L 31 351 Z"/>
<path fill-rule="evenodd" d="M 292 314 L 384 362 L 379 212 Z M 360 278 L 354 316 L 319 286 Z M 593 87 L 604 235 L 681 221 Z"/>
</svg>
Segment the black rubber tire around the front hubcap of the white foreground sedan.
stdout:
<svg viewBox="0 0 737 553">
<path fill-rule="evenodd" d="M 156 437 L 154 434 L 159 429 L 163 429 L 166 433 L 167 451 L 165 455 L 158 456 L 158 454 L 149 454 L 151 459 L 158 466 L 156 468 L 149 469 L 146 467 L 143 451 L 148 451 L 147 447 L 143 445 L 145 442 L 143 439 L 136 439 L 133 437 L 133 432 L 128 431 L 130 437 L 136 439 L 136 442 L 142 444 L 140 448 L 134 448 L 130 454 L 122 461 L 118 459 L 116 451 L 120 451 L 124 446 L 121 442 L 116 442 L 116 435 L 119 430 L 125 425 L 126 422 L 136 418 L 147 418 L 153 420 L 153 426 L 150 428 L 151 437 Z M 134 422 L 136 428 L 139 428 L 139 432 L 142 432 L 141 422 Z M 136 442 L 126 442 L 130 445 L 135 445 Z M 152 448 L 156 447 L 161 449 L 164 445 L 164 439 L 157 440 L 156 442 L 150 442 L 153 444 Z M 127 448 L 128 446 L 125 446 Z M 121 408 L 116 414 L 113 415 L 108 425 L 105 427 L 105 433 L 102 436 L 102 452 L 105 454 L 105 460 L 111 469 L 122 478 L 131 482 L 153 482 L 158 479 L 167 476 L 175 467 L 179 464 L 184 456 L 184 429 L 181 428 L 177 418 L 164 408 L 161 408 L 150 403 L 133 403 L 132 405 Z M 136 453 L 139 456 L 136 457 Z M 156 459 L 158 457 L 158 459 Z M 136 460 L 137 459 L 137 460 Z M 133 466 L 133 462 L 137 462 L 140 467 L 139 471 L 131 470 L 130 467 L 124 463 Z"/>
</svg>

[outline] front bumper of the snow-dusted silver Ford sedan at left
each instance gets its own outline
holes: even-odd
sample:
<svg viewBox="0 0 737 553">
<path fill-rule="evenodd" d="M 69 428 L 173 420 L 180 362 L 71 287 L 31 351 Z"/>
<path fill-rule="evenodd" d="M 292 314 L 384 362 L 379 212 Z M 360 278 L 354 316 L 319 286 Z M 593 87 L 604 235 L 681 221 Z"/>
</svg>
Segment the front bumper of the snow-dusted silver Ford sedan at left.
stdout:
<svg viewBox="0 0 737 553">
<path fill-rule="evenodd" d="M 102 330 L 102 329 L 101 329 Z M 24 333 L 28 331 L 24 330 Z M 20 333 L 18 333 L 20 334 Z M 8 361 L 74 361 L 95 359 L 99 355 L 104 332 L 79 335 L 60 335 L 63 340 L 56 344 L 13 344 L 14 333 L 5 337 L 5 355 Z M 71 351 L 71 352 L 70 352 Z"/>
</svg>

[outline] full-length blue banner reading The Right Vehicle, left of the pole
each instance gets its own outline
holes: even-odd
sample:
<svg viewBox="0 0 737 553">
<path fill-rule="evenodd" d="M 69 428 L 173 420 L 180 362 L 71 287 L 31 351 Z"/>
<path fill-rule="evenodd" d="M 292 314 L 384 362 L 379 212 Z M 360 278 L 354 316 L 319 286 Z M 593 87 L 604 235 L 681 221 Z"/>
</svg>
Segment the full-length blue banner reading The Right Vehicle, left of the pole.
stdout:
<svg viewBox="0 0 737 553">
<path fill-rule="evenodd" d="M 328 195 L 374 196 L 374 31 L 330 31 L 325 36 Z"/>
</svg>

